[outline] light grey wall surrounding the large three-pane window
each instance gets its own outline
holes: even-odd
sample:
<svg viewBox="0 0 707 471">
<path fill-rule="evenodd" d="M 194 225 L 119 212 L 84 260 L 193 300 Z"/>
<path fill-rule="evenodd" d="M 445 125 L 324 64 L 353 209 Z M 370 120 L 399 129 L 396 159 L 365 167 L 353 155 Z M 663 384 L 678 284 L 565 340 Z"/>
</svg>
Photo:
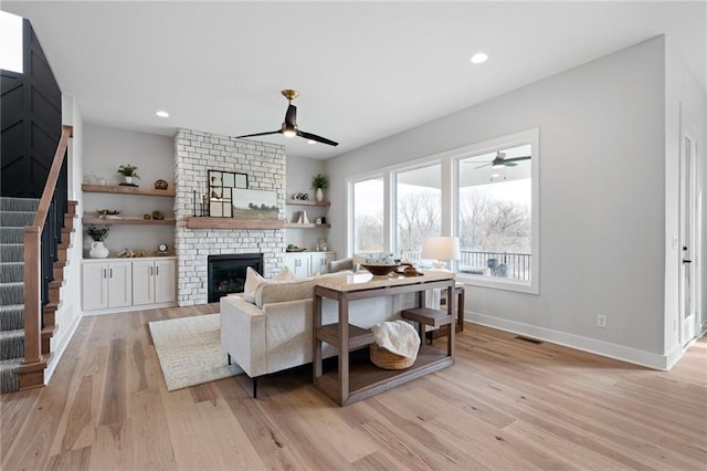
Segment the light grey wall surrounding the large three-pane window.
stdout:
<svg viewBox="0 0 707 471">
<path fill-rule="evenodd" d="M 477 322 L 664 364 L 664 41 L 656 38 L 326 163 L 346 178 L 540 128 L 540 293 L 468 287 Z M 346 228 L 331 245 L 346 250 Z M 597 314 L 608 327 L 595 326 Z"/>
</svg>

